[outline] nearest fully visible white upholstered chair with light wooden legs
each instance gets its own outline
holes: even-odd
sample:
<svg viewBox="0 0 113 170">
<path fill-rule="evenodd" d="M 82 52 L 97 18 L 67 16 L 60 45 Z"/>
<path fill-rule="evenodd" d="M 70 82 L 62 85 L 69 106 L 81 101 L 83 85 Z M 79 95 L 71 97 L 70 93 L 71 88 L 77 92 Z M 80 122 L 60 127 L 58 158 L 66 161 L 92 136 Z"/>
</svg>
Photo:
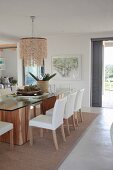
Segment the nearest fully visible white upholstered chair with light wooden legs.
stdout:
<svg viewBox="0 0 113 170">
<path fill-rule="evenodd" d="M 50 129 L 53 133 L 53 140 L 55 144 L 56 150 L 58 150 L 58 143 L 56 137 L 56 129 L 61 126 L 63 140 L 65 141 L 65 133 L 63 127 L 63 117 L 64 117 L 64 109 L 67 98 L 57 99 L 53 108 L 53 114 L 51 116 L 47 115 L 39 115 L 29 121 L 29 134 L 30 134 L 30 144 L 33 143 L 32 137 L 32 127 L 41 128 L 41 136 L 43 136 L 43 128 Z"/>
</svg>

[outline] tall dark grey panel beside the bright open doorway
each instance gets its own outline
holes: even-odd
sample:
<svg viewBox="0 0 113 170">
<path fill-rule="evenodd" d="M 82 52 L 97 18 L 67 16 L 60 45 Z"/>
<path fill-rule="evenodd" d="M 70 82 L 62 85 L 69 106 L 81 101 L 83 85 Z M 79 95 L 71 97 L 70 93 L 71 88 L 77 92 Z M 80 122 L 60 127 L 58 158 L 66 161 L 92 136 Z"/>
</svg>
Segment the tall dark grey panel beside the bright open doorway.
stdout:
<svg viewBox="0 0 113 170">
<path fill-rule="evenodd" d="M 92 51 L 92 84 L 91 84 L 91 106 L 102 106 L 102 55 L 103 41 L 91 41 Z"/>
</svg>

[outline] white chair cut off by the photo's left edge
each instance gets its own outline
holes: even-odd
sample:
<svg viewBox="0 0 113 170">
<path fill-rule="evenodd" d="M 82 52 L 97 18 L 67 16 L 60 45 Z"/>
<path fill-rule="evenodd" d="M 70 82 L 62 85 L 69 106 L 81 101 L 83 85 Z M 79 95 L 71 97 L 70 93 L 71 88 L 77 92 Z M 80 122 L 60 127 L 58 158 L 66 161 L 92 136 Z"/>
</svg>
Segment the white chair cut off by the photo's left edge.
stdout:
<svg viewBox="0 0 113 170">
<path fill-rule="evenodd" d="M 10 148 L 13 149 L 13 124 L 0 121 L 0 136 L 7 132 L 10 132 Z"/>
</svg>

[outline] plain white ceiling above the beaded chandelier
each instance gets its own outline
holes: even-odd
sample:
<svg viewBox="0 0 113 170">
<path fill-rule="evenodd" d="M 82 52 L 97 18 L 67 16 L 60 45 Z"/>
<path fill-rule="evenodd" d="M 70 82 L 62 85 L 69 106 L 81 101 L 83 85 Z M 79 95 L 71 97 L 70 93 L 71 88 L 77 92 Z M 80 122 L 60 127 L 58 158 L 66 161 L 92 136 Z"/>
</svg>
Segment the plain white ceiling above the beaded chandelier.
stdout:
<svg viewBox="0 0 113 170">
<path fill-rule="evenodd" d="M 113 0 L 0 0 L 0 40 L 113 31 Z"/>
</svg>

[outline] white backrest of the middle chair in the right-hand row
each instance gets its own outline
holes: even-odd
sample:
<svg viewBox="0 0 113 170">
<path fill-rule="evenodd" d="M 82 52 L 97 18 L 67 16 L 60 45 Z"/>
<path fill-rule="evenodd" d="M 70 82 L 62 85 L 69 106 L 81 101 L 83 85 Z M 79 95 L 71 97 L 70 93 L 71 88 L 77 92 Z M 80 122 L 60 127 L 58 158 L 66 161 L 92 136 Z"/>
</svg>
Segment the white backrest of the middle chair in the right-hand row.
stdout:
<svg viewBox="0 0 113 170">
<path fill-rule="evenodd" d="M 68 94 L 65 112 L 64 112 L 64 118 L 68 119 L 70 116 L 73 115 L 76 95 L 77 95 L 77 92 Z"/>
</svg>

